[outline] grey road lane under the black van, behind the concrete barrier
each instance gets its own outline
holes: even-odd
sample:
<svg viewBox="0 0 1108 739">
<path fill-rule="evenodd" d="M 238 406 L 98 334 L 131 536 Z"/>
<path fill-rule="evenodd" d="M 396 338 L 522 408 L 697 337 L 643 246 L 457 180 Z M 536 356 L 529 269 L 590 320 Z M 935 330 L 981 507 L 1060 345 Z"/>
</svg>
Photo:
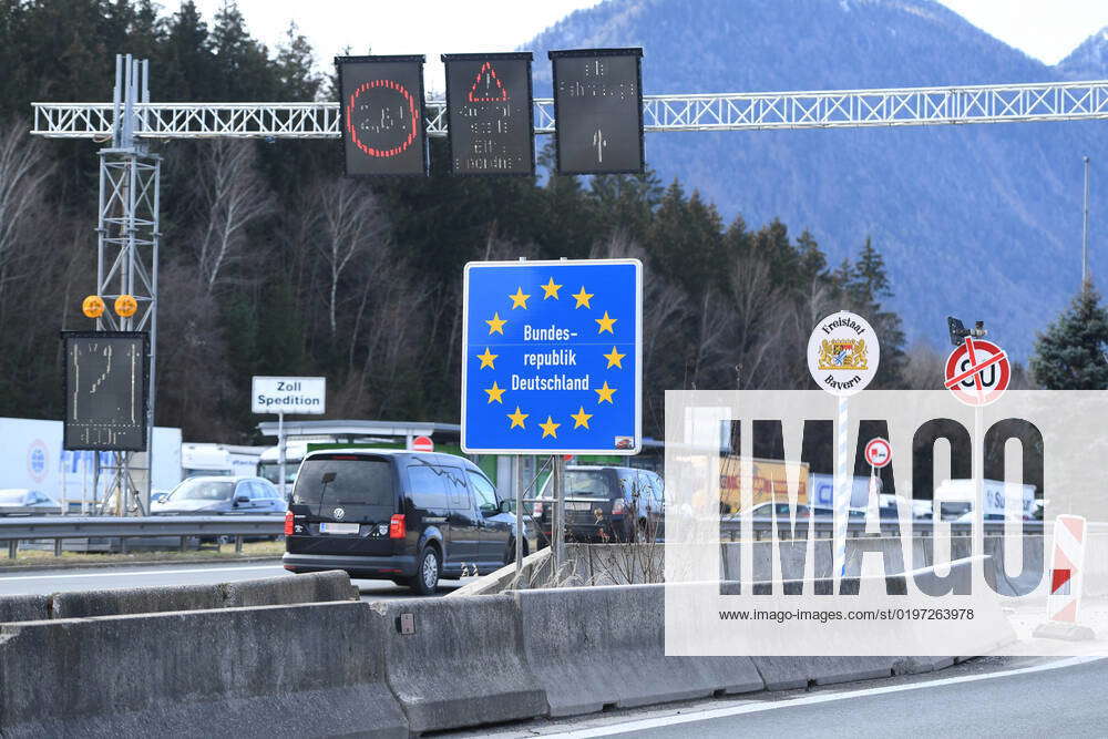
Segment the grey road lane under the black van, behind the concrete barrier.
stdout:
<svg viewBox="0 0 1108 739">
<path fill-rule="evenodd" d="M 263 562 L 244 564 L 193 562 L 147 567 L 73 567 L 71 569 L 42 569 L 0 575 L 0 595 L 156 585 L 202 585 L 277 576 L 295 577 L 280 565 Z M 466 577 L 461 581 L 442 581 L 440 595 L 473 579 Z M 394 585 L 387 579 L 355 579 L 351 582 L 361 591 L 362 601 L 414 597 L 408 588 Z"/>
</svg>

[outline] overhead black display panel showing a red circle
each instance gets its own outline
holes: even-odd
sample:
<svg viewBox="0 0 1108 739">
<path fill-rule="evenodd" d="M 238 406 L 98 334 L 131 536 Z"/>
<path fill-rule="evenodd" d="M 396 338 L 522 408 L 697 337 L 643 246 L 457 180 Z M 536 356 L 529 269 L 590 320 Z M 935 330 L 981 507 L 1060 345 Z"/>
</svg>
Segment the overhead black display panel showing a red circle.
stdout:
<svg viewBox="0 0 1108 739">
<path fill-rule="evenodd" d="M 423 57 L 337 57 L 347 175 L 425 175 Z"/>
</svg>

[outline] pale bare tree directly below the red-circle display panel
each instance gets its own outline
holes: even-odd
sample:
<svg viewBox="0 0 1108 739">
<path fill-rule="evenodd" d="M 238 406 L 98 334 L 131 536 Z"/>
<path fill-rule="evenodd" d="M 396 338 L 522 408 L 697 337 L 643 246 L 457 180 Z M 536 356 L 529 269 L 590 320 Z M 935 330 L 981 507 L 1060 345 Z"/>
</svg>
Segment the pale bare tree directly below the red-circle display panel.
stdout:
<svg viewBox="0 0 1108 739">
<path fill-rule="evenodd" d="M 338 330 L 336 312 L 342 273 L 351 259 L 386 243 L 389 224 L 377 196 L 351 179 L 331 179 L 320 185 L 317 203 L 322 234 L 316 243 L 330 270 L 327 308 L 334 337 Z"/>
</svg>

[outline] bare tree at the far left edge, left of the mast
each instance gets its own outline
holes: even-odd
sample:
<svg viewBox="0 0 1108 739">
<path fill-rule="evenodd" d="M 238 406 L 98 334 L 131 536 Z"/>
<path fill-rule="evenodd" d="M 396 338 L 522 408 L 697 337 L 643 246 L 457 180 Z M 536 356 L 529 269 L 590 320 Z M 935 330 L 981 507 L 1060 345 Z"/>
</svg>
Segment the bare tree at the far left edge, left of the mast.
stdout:
<svg viewBox="0 0 1108 739">
<path fill-rule="evenodd" d="M 53 170 L 43 142 L 27 134 L 25 121 L 0 130 L 0 296 L 11 279 L 21 234 L 37 227 L 31 216 L 42 204 Z"/>
</svg>

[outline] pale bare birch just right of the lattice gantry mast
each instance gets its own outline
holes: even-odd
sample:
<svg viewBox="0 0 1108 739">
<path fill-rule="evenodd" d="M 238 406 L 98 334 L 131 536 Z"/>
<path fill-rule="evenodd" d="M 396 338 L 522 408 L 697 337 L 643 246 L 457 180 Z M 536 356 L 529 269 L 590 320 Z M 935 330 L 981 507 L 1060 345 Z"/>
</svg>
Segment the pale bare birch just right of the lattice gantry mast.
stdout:
<svg viewBox="0 0 1108 739">
<path fill-rule="evenodd" d="M 211 294 L 226 269 L 245 257 L 247 228 L 273 212 L 274 201 L 257 170 L 253 142 L 215 138 L 201 150 L 197 183 L 206 205 L 197 263 Z"/>
</svg>

